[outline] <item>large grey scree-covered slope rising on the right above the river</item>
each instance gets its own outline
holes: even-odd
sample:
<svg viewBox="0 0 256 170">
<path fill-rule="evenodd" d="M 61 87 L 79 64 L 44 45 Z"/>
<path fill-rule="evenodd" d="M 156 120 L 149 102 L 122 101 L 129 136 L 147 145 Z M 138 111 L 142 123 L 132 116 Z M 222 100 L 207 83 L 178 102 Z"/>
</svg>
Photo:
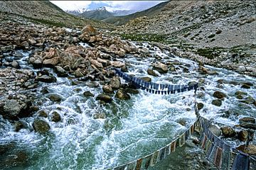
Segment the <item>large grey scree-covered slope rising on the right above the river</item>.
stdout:
<svg viewBox="0 0 256 170">
<path fill-rule="evenodd" d="M 255 28 L 252 1 L 170 1 L 156 16 L 136 18 L 115 33 L 162 42 L 182 57 L 255 76 Z"/>
</svg>

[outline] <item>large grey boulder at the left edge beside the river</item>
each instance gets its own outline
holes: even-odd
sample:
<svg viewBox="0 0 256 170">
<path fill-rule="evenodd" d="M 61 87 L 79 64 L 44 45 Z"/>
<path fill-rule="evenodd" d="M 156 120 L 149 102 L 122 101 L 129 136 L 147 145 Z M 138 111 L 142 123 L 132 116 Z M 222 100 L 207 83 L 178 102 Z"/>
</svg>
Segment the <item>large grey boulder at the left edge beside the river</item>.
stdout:
<svg viewBox="0 0 256 170">
<path fill-rule="evenodd" d="M 18 120 L 18 114 L 21 112 L 21 105 L 14 99 L 6 99 L 0 103 L 0 115 L 9 120 Z"/>
</svg>

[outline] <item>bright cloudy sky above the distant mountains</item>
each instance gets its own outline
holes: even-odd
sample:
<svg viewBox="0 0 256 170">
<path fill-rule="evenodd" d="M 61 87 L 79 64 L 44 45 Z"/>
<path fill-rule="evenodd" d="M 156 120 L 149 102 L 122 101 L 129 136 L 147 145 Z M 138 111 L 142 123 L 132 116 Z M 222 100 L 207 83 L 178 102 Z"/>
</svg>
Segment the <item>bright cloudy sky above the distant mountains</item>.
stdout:
<svg viewBox="0 0 256 170">
<path fill-rule="evenodd" d="M 156 4 L 159 4 L 163 1 L 50 1 L 56 6 L 63 9 L 63 11 L 67 10 L 75 10 L 82 8 L 88 8 L 88 6 L 93 2 L 95 4 L 100 4 L 104 2 L 105 4 L 108 4 L 107 7 L 108 11 L 114 11 L 114 10 L 136 10 L 136 11 L 142 11 L 146 8 L 150 8 L 152 6 L 155 6 Z"/>
</svg>

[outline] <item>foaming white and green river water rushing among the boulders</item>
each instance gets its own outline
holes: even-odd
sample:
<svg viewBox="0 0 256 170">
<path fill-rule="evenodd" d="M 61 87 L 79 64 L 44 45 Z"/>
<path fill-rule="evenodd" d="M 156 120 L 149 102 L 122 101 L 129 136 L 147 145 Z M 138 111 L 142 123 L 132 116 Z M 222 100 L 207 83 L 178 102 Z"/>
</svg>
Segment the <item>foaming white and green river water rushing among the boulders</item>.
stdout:
<svg viewBox="0 0 256 170">
<path fill-rule="evenodd" d="M 124 60 L 129 66 L 128 74 L 151 77 L 153 82 L 161 84 L 188 84 L 190 81 L 204 79 L 203 86 L 206 90 L 198 91 L 197 98 L 198 102 L 204 103 L 201 115 L 226 125 L 236 125 L 238 118 L 244 116 L 255 117 L 255 106 L 241 103 L 234 95 L 235 91 L 245 91 L 252 98 L 256 98 L 255 86 L 251 89 L 241 89 L 240 85 L 219 85 L 217 82 L 218 79 L 224 79 L 256 84 L 252 77 L 214 67 L 208 68 L 218 72 L 218 75 L 203 75 L 198 73 L 196 62 L 174 57 L 169 52 L 161 52 L 158 47 L 150 47 L 150 52 L 152 57 L 149 58 L 132 55 L 126 57 Z M 23 52 L 23 55 L 23 60 L 20 60 L 21 67 L 32 69 L 26 64 L 28 53 Z M 156 61 L 176 63 L 177 72 L 161 74 L 159 77 L 149 76 L 146 69 Z M 183 72 L 184 67 L 188 72 Z M 49 94 L 41 94 L 40 91 L 35 94 L 38 96 L 35 102 L 41 106 L 41 111 L 48 111 L 49 115 L 57 111 L 61 116 L 58 123 L 43 118 L 50 125 L 50 133 L 47 135 L 32 131 L 31 123 L 36 114 L 34 118 L 23 118 L 23 122 L 28 123 L 28 128 L 19 132 L 14 132 L 11 123 L 0 118 L 4 125 L 0 142 L 17 142 L 18 147 L 25 149 L 31 158 L 29 164 L 18 168 L 107 169 L 144 157 L 164 147 L 196 120 L 193 91 L 158 95 L 139 90 L 139 94 L 132 94 L 129 101 L 114 98 L 112 103 L 101 105 L 95 98 L 97 94 L 102 94 L 102 85 L 90 88 L 84 83 L 74 85 L 72 81 L 74 80 L 58 77 L 57 82 L 65 84 L 48 86 L 50 94 L 61 96 L 62 101 L 59 103 L 50 101 L 47 98 Z M 212 94 L 217 90 L 228 94 L 228 98 L 225 98 L 220 107 L 211 104 L 214 99 Z M 90 91 L 95 96 L 85 97 L 85 91 Z M 223 117 L 223 111 L 228 110 L 233 114 L 228 118 Z M 99 116 L 100 118 L 96 118 Z M 181 120 L 186 122 L 186 125 L 178 123 Z M 168 167 L 170 162 L 172 161 L 156 165 L 155 169 Z M 178 164 L 178 160 L 173 162 Z M 183 168 L 186 169 L 186 165 Z"/>
</svg>

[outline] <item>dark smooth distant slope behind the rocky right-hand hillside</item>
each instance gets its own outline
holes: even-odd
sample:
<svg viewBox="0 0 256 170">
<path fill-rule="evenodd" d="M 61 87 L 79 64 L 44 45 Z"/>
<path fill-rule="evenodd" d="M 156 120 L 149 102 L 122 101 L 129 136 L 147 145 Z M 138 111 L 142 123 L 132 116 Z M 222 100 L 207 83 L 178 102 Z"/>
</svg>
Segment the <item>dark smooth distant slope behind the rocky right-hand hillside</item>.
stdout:
<svg viewBox="0 0 256 170">
<path fill-rule="evenodd" d="M 157 13 L 161 12 L 161 10 L 164 8 L 164 6 L 166 6 L 166 4 L 168 4 L 168 3 L 169 3 L 169 1 L 162 2 L 160 4 L 157 4 L 156 6 L 153 6 L 149 9 L 146 9 L 144 11 L 140 11 L 140 12 L 137 12 L 137 13 L 132 13 L 132 14 L 129 14 L 127 16 L 114 16 L 114 17 L 111 17 L 111 18 L 106 18 L 102 21 L 104 21 L 106 23 L 112 23 L 116 26 L 122 26 L 122 25 L 131 21 L 134 18 L 139 18 L 139 17 L 142 17 L 142 16 L 154 16 L 154 15 L 156 15 Z"/>
</svg>

